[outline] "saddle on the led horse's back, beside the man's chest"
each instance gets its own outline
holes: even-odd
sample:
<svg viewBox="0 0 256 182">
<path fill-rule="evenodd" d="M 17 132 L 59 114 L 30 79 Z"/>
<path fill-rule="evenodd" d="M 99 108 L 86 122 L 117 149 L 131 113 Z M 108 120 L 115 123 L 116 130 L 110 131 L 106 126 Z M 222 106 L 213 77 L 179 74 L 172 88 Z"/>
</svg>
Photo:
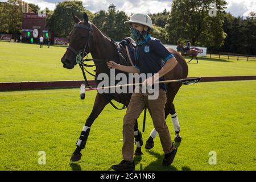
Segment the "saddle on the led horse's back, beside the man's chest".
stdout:
<svg viewBox="0 0 256 182">
<path fill-rule="evenodd" d="M 136 43 L 135 41 L 130 38 L 127 37 L 125 39 L 123 39 L 119 45 L 122 46 L 122 48 L 124 49 L 128 60 L 130 61 L 130 65 L 134 66 L 135 64 L 135 47 L 136 47 Z"/>
</svg>

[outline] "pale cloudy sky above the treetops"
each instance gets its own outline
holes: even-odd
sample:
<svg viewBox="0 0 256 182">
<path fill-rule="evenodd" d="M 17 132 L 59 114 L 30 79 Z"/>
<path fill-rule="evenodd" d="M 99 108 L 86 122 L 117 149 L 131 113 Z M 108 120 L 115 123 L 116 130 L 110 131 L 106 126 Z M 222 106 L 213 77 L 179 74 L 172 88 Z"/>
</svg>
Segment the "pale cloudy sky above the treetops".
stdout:
<svg viewBox="0 0 256 182">
<path fill-rule="evenodd" d="M 6 2 L 7 0 L 0 0 Z M 54 10 L 55 6 L 61 0 L 23 0 L 28 3 L 34 3 L 41 9 L 48 7 Z M 63 1 L 63 0 L 62 0 Z M 125 11 L 127 15 L 131 13 L 159 13 L 164 9 L 170 11 L 172 0 L 80 0 L 84 3 L 86 9 L 93 13 L 99 10 L 108 10 L 110 3 L 114 3 L 117 10 Z M 196 1 L 196 0 L 195 0 Z M 226 0 L 228 2 L 226 11 L 234 16 L 246 16 L 250 11 L 256 11 L 256 0 Z"/>
</svg>

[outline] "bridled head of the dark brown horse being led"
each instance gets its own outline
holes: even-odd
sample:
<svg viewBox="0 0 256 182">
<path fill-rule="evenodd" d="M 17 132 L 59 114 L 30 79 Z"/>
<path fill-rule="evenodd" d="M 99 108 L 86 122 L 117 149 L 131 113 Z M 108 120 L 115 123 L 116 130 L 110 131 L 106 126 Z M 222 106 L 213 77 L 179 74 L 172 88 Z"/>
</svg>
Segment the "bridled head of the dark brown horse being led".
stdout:
<svg viewBox="0 0 256 182">
<path fill-rule="evenodd" d="M 92 46 L 92 27 L 88 19 L 88 15 L 84 13 L 84 20 L 81 21 L 73 14 L 75 26 L 69 33 L 69 46 L 67 51 L 61 58 L 64 68 L 72 69 L 77 64 L 77 59 L 83 59 L 90 52 Z"/>
</svg>

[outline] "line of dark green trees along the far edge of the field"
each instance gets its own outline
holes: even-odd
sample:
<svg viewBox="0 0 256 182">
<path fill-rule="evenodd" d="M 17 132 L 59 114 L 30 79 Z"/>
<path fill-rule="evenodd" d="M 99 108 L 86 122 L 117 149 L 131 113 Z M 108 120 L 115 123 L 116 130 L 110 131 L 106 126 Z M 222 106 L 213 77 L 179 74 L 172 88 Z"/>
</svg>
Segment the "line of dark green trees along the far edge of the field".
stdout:
<svg viewBox="0 0 256 182">
<path fill-rule="evenodd" d="M 20 2 L 0 3 L 0 32 L 21 32 Z M 210 14 L 212 5 L 216 5 L 215 15 Z M 151 35 L 166 44 L 184 44 L 189 39 L 193 46 L 208 47 L 212 52 L 256 55 L 256 13 L 251 12 L 246 18 L 234 17 L 225 12 L 226 5 L 225 0 L 174 0 L 170 11 L 149 14 L 153 23 Z M 32 12 L 39 11 L 37 5 L 30 3 L 29 6 Z M 129 28 L 123 24 L 130 15 L 117 10 L 113 4 L 106 11 L 92 13 L 81 1 L 59 2 L 55 10 L 47 9 L 47 27 L 55 36 L 67 37 L 73 28 L 72 12 L 82 19 L 84 11 L 110 38 L 120 41 L 130 36 Z"/>
</svg>

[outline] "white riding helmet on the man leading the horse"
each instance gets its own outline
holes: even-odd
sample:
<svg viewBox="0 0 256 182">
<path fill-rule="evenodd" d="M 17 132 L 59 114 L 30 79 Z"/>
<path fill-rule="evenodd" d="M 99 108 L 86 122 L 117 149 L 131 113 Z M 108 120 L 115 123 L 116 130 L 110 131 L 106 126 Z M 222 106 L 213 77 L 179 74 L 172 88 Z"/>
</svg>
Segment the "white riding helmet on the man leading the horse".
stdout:
<svg viewBox="0 0 256 182">
<path fill-rule="evenodd" d="M 152 20 L 147 14 L 137 13 L 133 14 L 129 21 L 125 22 L 127 27 L 131 27 L 131 23 L 143 24 L 144 26 L 152 28 Z"/>
</svg>

